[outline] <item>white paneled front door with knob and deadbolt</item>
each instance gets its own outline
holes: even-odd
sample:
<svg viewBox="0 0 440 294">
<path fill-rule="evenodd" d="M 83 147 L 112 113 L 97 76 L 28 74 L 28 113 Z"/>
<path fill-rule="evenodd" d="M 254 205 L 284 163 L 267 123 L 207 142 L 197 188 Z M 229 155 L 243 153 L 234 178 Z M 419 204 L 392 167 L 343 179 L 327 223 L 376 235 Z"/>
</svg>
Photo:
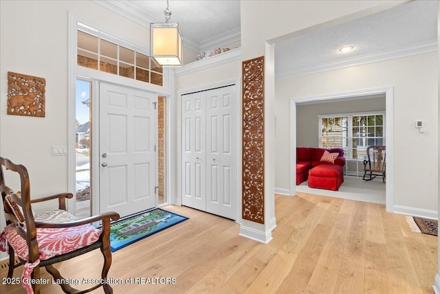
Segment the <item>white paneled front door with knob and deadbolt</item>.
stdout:
<svg viewBox="0 0 440 294">
<path fill-rule="evenodd" d="M 155 207 L 157 95 L 100 82 L 100 213 Z"/>
</svg>

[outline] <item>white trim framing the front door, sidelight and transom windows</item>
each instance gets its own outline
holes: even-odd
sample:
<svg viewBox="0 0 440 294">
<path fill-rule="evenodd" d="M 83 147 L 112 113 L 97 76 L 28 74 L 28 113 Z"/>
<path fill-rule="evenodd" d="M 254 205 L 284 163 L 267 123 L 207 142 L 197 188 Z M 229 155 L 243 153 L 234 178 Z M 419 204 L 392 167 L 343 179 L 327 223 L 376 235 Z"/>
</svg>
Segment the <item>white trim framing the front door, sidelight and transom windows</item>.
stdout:
<svg viewBox="0 0 440 294">
<path fill-rule="evenodd" d="M 174 98 L 174 78 L 173 78 L 173 71 L 171 69 L 164 69 L 164 84 L 163 86 L 158 86 L 155 84 L 148 84 L 145 82 L 141 82 L 138 80 L 131 80 L 131 79 L 127 79 L 121 76 L 115 76 L 113 74 L 107 74 L 104 73 L 102 71 L 96 71 L 95 69 L 88 69 L 86 67 L 81 67 L 79 65 L 76 64 L 77 61 L 77 56 L 76 56 L 76 49 L 77 49 L 77 22 L 81 22 L 81 23 L 85 23 L 87 25 L 90 25 L 91 27 L 94 27 L 98 30 L 102 30 L 103 32 L 109 32 L 114 38 L 118 38 L 122 41 L 124 41 L 124 43 L 131 43 L 129 41 L 124 40 L 124 38 L 122 36 L 118 36 L 116 34 L 113 34 L 113 32 L 111 32 L 111 30 L 107 30 L 106 27 L 102 27 L 101 25 L 98 25 L 98 23 L 94 23 L 92 21 L 89 21 L 88 19 L 83 18 L 82 16 L 78 16 L 76 14 L 74 14 L 74 12 L 69 11 L 68 12 L 68 40 L 67 40 L 67 89 L 68 89 L 68 104 L 67 104 L 67 108 L 68 108 L 68 137 L 67 137 L 67 147 L 68 147 L 68 155 L 67 155 L 67 190 L 69 192 L 71 192 L 72 194 L 75 194 L 76 192 L 76 187 L 75 187 L 75 167 L 76 167 L 76 163 L 75 163 L 75 156 L 74 156 L 74 152 L 75 152 L 75 133 L 76 133 L 76 117 L 75 117 L 75 94 L 76 94 L 76 89 L 75 89 L 75 80 L 78 77 L 81 78 L 86 78 L 88 80 L 91 80 L 94 84 L 93 84 L 93 95 L 95 98 L 95 102 L 96 104 L 94 104 L 94 113 L 92 113 L 93 119 L 94 120 L 99 120 L 99 115 L 96 113 L 96 109 L 98 109 L 99 106 L 99 102 L 98 102 L 98 87 L 97 84 L 98 82 L 107 82 L 110 84 L 117 84 L 120 86 L 124 86 L 124 87 L 130 87 L 133 89 L 138 89 L 140 91 L 147 91 L 147 92 L 151 92 L 151 93 L 155 93 L 157 95 L 162 95 L 166 97 L 166 113 L 167 113 L 167 120 L 169 120 L 167 122 L 167 125 L 169 126 L 169 128 L 166 128 L 166 137 L 167 139 L 170 138 L 171 141 L 170 144 L 168 144 L 166 146 L 166 157 L 167 157 L 167 163 L 166 163 L 166 197 L 168 202 L 170 201 L 170 193 L 173 189 L 173 174 L 170 173 L 170 170 L 172 168 L 173 165 L 173 161 L 171 159 L 173 159 L 172 157 L 172 152 L 173 152 L 173 147 L 170 146 L 171 144 L 173 144 L 173 124 L 171 123 L 171 115 L 170 113 L 173 113 L 174 110 L 174 106 L 173 106 L 173 98 Z M 136 44 L 132 44 L 135 47 L 142 47 L 141 45 L 136 45 Z M 142 52 L 141 52 L 142 53 Z M 147 54 L 148 52 L 144 52 L 145 54 Z M 149 55 L 149 54 L 147 54 Z M 92 126 L 92 128 L 94 128 L 93 132 L 95 136 L 99 136 L 99 131 L 96 130 L 97 126 Z M 93 146 L 93 142 L 92 142 L 92 148 L 96 149 L 96 145 L 95 147 Z M 97 142 L 96 144 L 99 144 L 99 142 Z M 93 152 L 93 151 L 92 151 Z M 92 160 L 96 160 L 94 159 L 94 155 L 92 155 Z M 96 168 L 94 169 L 96 171 Z M 92 179 L 94 178 L 94 183 L 92 183 L 92 211 L 91 214 L 97 214 L 97 205 L 96 205 L 96 201 L 98 201 L 98 197 L 99 195 L 97 194 L 98 192 L 94 191 L 93 186 L 94 185 L 99 185 L 99 179 L 96 177 L 96 174 L 94 173 L 94 171 L 92 170 L 92 174 L 91 174 Z M 93 194 L 95 193 L 95 194 Z M 95 198 L 94 198 L 95 197 Z M 68 199 L 67 200 L 67 209 L 69 210 L 69 212 L 71 212 L 72 214 L 76 214 L 76 207 L 75 207 L 75 197 L 73 197 L 72 199 Z"/>
</svg>

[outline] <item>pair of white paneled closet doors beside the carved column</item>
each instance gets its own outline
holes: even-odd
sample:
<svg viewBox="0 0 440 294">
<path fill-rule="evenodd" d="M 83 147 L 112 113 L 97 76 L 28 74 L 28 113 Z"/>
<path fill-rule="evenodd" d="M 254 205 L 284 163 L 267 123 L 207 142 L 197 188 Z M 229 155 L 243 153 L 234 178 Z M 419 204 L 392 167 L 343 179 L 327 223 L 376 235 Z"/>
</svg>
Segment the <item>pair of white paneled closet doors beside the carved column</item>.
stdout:
<svg viewBox="0 0 440 294">
<path fill-rule="evenodd" d="M 236 85 L 181 95 L 182 205 L 236 219 Z"/>
</svg>

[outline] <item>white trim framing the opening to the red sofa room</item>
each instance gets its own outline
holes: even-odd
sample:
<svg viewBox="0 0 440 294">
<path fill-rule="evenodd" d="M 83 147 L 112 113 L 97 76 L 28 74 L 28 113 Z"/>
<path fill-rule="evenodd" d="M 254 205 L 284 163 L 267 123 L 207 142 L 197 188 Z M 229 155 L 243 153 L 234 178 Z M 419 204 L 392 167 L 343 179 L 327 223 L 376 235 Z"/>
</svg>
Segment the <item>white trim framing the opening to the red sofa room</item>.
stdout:
<svg viewBox="0 0 440 294">
<path fill-rule="evenodd" d="M 363 98 L 363 96 L 371 96 L 377 94 L 385 95 L 385 136 L 386 146 L 391 152 L 387 152 L 386 156 L 386 210 L 395 212 L 394 207 L 394 88 L 382 87 L 375 89 L 363 89 L 355 91 L 347 91 L 340 93 L 329 93 L 322 95 L 307 96 L 303 98 L 290 98 L 290 172 L 289 172 L 289 193 L 291 196 L 296 194 L 296 105 L 306 102 L 326 102 L 329 100 L 346 100 L 353 98 Z M 369 97 L 364 97 L 369 98 Z"/>
</svg>

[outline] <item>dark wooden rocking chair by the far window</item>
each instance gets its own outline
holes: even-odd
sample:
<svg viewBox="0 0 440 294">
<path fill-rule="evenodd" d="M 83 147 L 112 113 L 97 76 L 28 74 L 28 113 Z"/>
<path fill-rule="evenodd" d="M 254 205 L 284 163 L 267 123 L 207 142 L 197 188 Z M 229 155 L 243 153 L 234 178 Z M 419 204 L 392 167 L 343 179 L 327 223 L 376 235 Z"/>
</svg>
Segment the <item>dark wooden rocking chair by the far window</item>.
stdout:
<svg viewBox="0 0 440 294">
<path fill-rule="evenodd" d="M 382 177 L 382 181 L 385 183 L 385 146 L 368 146 L 366 148 L 366 157 L 368 160 L 364 160 L 364 177 L 362 179 L 371 181 L 375 177 Z"/>
</svg>

